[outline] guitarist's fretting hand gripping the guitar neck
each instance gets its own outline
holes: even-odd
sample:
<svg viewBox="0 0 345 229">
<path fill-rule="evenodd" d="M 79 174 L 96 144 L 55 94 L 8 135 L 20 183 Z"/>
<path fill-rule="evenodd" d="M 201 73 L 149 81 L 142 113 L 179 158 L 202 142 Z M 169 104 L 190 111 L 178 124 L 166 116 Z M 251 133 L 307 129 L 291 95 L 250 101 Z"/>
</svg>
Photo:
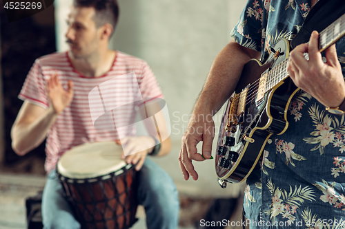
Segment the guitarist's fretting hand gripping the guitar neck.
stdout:
<svg viewBox="0 0 345 229">
<path fill-rule="evenodd" d="M 345 98 L 345 82 L 335 45 L 326 50 L 326 63 L 318 48 L 319 34 L 314 31 L 309 43 L 290 52 L 288 74 L 295 85 L 311 94 L 326 107 L 338 107 Z M 308 53 L 309 60 L 304 58 Z"/>
</svg>

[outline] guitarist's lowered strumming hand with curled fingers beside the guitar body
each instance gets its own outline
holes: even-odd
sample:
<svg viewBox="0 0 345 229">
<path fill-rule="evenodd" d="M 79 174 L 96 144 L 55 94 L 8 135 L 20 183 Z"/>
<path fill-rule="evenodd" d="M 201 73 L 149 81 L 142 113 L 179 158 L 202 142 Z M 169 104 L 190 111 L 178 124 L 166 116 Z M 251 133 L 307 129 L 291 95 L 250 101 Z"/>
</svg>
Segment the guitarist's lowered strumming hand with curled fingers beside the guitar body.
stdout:
<svg viewBox="0 0 345 229">
<path fill-rule="evenodd" d="M 182 137 L 182 146 L 179 152 L 179 166 L 185 180 L 189 179 L 189 175 L 191 175 L 194 180 L 198 179 L 198 174 L 194 169 L 192 160 L 201 162 L 205 159 L 210 159 L 214 137 L 215 122 L 213 122 L 212 115 L 193 113 L 188 127 L 184 132 L 184 136 Z M 202 157 L 200 153 L 197 153 L 197 144 L 201 141 L 203 141 L 202 155 L 204 155 L 204 157 Z"/>
</svg>

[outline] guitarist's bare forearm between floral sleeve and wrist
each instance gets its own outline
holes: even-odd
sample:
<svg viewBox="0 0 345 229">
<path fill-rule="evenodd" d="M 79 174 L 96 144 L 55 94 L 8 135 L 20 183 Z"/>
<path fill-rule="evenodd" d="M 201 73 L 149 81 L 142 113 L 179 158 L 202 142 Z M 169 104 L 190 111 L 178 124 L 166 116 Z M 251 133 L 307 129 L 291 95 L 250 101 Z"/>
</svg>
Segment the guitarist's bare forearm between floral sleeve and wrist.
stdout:
<svg viewBox="0 0 345 229">
<path fill-rule="evenodd" d="M 226 45 L 210 68 L 193 113 L 212 113 L 214 115 L 235 91 L 243 66 L 251 58 L 259 58 L 259 52 L 250 52 L 250 50 L 248 52 L 248 49 L 235 41 Z"/>
</svg>

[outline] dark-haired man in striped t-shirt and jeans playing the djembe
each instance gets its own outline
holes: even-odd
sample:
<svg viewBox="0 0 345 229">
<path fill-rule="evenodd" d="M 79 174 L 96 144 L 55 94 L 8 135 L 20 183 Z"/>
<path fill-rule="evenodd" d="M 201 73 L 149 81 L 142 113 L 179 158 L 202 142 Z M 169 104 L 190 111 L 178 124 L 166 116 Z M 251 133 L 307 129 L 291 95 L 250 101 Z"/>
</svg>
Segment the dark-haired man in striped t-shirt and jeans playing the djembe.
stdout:
<svg viewBox="0 0 345 229">
<path fill-rule="evenodd" d="M 86 142 L 120 140 L 116 129 L 94 127 L 88 103 L 89 92 L 116 76 L 134 73 L 143 100 L 163 98 L 145 61 L 108 49 L 118 14 L 116 0 L 75 0 L 67 20 L 66 39 L 70 50 L 38 58 L 19 94 L 24 102 L 12 127 L 12 148 L 18 155 L 25 155 L 47 138 L 45 168 L 48 178 L 42 199 L 44 228 L 80 228 L 62 195 L 56 173 L 59 157 Z M 130 103 L 130 83 L 119 83 L 115 89 L 114 93 L 121 102 Z M 133 111 L 127 109 L 120 113 L 124 113 L 122 116 L 135 116 Z M 164 123 L 163 116 L 155 118 L 157 123 Z M 164 132 L 166 128 L 159 131 Z M 135 133 L 135 129 L 130 129 L 130 133 Z M 138 141 L 152 146 L 157 140 L 132 134 L 128 144 L 135 152 L 139 152 L 135 150 Z M 163 169 L 146 158 L 148 154 L 164 155 L 169 151 L 170 139 L 167 138 L 161 142 L 159 151 L 150 147 L 123 156 L 126 163 L 137 164 L 137 197 L 139 204 L 146 209 L 148 228 L 177 228 L 179 201 L 175 184 Z"/>
</svg>

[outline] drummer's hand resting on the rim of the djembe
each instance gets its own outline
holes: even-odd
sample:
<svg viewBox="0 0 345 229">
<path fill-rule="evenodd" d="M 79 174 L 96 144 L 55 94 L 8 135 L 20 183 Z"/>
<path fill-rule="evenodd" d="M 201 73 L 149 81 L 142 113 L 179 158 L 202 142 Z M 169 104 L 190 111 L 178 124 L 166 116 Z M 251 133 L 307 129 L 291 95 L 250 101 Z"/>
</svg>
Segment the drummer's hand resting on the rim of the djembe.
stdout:
<svg viewBox="0 0 345 229">
<path fill-rule="evenodd" d="M 126 137 L 121 139 L 121 144 L 126 147 L 127 156 L 122 153 L 121 159 L 127 164 L 137 164 L 135 170 L 139 171 L 145 162 L 146 155 L 155 145 L 155 140 L 150 136 Z M 146 149 L 141 151 L 141 149 Z"/>
</svg>

